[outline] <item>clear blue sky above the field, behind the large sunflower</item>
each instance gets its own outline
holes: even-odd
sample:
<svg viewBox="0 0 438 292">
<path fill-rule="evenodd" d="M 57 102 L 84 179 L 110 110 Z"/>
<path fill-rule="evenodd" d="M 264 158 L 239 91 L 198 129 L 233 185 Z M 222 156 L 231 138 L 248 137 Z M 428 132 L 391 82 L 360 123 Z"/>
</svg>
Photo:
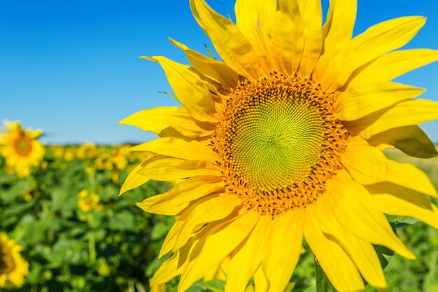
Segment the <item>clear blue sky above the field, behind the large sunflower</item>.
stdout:
<svg viewBox="0 0 438 292">
<path fill-rule="evenodd" d="M 323 1 L 325 10 L 327 1 Z M 209 0 L 234 18 L 234 1 Z M 405 15 L 428 22 L 405 48 L 438 49 L 438 1 L 359 0 L 355 34 Z M 118 121 L 154 106 L 176 105 L 160 66 L 141 55 L 186 62 L 168 37 L 206 54 L 209 44 L 188 0 L 0 1 L 0 120 L 42 128 L 48 143 L 116 144 L 153 134 Z M 211 45 L 210 45 L 211 47 Z M 397 81 L 427 88 L 438 101 L 438 64 Z M 438 122 L 423 126 L 438 141 Z"/>
</svg>

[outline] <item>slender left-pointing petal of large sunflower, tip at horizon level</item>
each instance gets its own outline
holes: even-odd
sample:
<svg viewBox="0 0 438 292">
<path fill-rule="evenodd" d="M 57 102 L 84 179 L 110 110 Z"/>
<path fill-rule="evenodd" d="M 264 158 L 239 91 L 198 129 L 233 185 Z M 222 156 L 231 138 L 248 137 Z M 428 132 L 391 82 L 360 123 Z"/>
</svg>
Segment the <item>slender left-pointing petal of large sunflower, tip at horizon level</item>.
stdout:
<svg viewBox="0 0 438 292">
<path fill-rule="evenodd" d="M 132 147 L 132 151 L 150 151 L 174 158 L 187 160 L 206 160 L 215 162 L 213 149 L 195 140 L 183 140 L 174 137 L 155 139 Z"/>
</svg>

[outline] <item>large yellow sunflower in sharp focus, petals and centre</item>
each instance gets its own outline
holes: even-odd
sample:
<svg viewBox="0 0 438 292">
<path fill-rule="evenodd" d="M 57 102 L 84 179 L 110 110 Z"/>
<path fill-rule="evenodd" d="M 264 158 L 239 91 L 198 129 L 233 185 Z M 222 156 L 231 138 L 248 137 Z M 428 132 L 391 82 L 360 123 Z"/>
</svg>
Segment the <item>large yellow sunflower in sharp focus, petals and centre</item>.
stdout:
<svg viewBox="0 0 438 292">
<path fill-rule="evenodd" d="M 438 228 L 428 177 L 388 160 L 387 146 L 429 158 L 435 146 L 417 126 L 438 118 L 420 88 L 392 82 L 438 60 L 435 50 L 397 50 L 424 25 L 388 20 L 352 39 L 356 1 L 237 0 L 236 24 L 204 0 L 193 15 L 222 58 L 181 43 L 191 66 L 159 62 L 182 107 L 122 120 L 160 137 L 135 146 L 156 153 L 129 174 L 122 193 L 153 179 L 183 179 L 139 203 L 177 215 L 153 277 L 181 274 L 178 291 L 229 257 L 225 291 L 283 291 L 304 238 L 337 291 L 379 291 L 386 281 L 372 244 L 415 258 L 384 214 Z"/>
</svg>

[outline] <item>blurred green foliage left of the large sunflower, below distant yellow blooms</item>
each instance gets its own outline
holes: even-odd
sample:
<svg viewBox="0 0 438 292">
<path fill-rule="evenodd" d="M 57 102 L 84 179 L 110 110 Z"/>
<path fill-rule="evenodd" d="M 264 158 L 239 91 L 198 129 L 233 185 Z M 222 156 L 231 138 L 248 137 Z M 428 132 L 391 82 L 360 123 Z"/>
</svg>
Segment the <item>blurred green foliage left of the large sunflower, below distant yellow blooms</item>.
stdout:
<svg viewBox="0 0 438 292">
<path fill-rule="evenodd" d="M 114 183 L 113 169 L 87 173 L 83 160 L 47 159 L 45 169 L 23 179 L 0 167 L 0 231 L 22 245 L 30 264 L 26 284 L 12 291 L 148 291 L 174 218 L 135 203 L 169 185 L 151 181 L 118 197 L 125 169 Z M 78 208 L 84 189 L 99 195 L 99 209 Z"/>
</svg>

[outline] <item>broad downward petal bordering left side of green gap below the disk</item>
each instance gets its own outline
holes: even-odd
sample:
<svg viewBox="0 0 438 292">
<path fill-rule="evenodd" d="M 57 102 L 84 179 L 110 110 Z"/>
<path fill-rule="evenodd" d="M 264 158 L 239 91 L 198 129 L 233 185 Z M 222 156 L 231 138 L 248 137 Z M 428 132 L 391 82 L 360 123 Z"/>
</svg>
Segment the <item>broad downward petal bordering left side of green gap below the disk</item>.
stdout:
<svg viewBox="0 0 438 292">
<path fill-rule="evenodd" d="M 288 211 L 272 221 L 269 252 L 263 259 L 269 292 L 282 292 L 295 270 L 302 247 L 304 210 Z"/>
</svg>

